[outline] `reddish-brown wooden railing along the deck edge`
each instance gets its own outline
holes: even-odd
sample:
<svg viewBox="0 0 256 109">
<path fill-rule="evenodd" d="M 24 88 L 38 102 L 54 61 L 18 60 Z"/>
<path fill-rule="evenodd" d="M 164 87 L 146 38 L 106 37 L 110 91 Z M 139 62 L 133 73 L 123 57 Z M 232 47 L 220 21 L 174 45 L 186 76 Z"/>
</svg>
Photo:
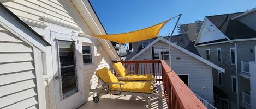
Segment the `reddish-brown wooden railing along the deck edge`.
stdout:
<svg viewBox="0 0 256 109">
<path fill-rule="evenodd" d="M 117 62 L 117 61 L 115 61 Z M 164 94 L 168 108 L 205 108 L 201 101 L 187 87 L 164 60 L 120 61 L 127 70 L 136 74 L 153 74 L 158 81 L 163 81 Z"/>
</svg>

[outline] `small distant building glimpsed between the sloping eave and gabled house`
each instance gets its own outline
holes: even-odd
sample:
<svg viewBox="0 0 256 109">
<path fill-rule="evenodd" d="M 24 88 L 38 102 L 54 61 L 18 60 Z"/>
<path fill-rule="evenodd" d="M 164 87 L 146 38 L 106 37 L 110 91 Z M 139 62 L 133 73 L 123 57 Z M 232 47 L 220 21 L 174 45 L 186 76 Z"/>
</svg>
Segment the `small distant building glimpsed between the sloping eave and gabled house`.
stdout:
<svg viewBox="0 0 256 109">
<path fill-rule="evenodd" d="M 121 61 L 126 60 L 126 55 L 127 55 L 127 49 L 126 49 L 126 44 L 119 44 L 116 42 L 112 42 L 114 48 L 116 49 L 117 54 L 119 55 Z"/>
</svg>

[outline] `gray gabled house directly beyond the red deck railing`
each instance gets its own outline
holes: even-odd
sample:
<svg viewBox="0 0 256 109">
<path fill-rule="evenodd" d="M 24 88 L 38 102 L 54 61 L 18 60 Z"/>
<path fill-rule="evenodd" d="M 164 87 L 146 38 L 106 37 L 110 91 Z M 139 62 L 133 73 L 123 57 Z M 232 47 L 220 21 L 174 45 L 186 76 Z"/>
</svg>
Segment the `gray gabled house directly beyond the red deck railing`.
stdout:
<svg viewBox="0 0 256 109">
<path fill-rule="evenodd" d="M 212 68 L 221 72 L 224 72 L 224 69 L 189 52 L 195 50 L 194 52 L 197 53 L 197 50 L 187 35 L 172 36 L 171 49 L 168 39 L 169 37 L 158 37 L 133 43 L 135 53 L 130 53 L 132 56 L 129 60 L 165 60 L 194 93 L 213 104 Z M 146 42 L 148 45 L 144 46 Z"/>
</svg>

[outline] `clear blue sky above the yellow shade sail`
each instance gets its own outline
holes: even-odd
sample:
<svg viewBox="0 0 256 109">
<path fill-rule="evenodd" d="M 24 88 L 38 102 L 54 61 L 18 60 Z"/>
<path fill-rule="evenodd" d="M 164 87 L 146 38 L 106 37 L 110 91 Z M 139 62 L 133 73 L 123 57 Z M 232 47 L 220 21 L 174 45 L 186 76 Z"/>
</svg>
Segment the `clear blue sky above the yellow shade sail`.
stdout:
<svg viewBox="0 0 256 109">
<path fill-rule="evenodd" d="M 139 30 L 182 14 L 178 24 L 204 20 L 205 16 L 242 12 L 256 7 L 255 0 L 91 0 L 108 34 Z M 159 35 L 171 33 L 177 18 Z M 177 29 L 175 33 L 177 34 Z"/>
</svg>

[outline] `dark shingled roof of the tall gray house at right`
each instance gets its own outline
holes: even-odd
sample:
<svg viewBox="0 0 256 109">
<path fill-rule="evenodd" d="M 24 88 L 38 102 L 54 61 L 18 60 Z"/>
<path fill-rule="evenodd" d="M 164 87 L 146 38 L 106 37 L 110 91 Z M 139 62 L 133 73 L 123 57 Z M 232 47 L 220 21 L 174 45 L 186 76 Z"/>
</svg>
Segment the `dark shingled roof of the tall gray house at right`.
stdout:
<svg viewBox="0 0 256 109">
<path fill-rule="evenodd" d="M 254 38 L 256 37 L 256 31 L 236 19 L 232 20 L 232 18 L 243 13 L 244 12 L 237 12 L 233 14 L 206 16 L 206 18 L 208 18 L 230 40 Z"/>
</svg>

